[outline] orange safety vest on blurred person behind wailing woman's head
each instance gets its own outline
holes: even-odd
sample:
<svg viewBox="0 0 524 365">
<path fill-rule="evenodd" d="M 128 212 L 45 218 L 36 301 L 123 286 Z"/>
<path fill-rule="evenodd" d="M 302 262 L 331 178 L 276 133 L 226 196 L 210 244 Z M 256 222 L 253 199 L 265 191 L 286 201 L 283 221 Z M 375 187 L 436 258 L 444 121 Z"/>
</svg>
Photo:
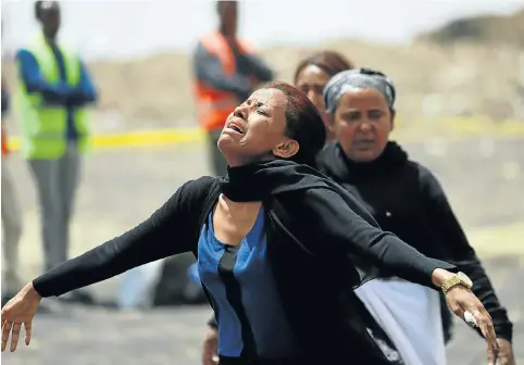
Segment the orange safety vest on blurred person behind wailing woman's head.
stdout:
<svg viewBox="0 0 524 365">
<path fill-rule="evenodd" d="M 222 64 L 224 75 L 232 76 L 236 72 L 235 55 L 227 40 L 220 32 L 213 32 L 200 39 L 205 50 L 216 55 Z M 238 40 L 240 51 L 251 53 L 251 47 L 245 40 Z M 205 130 L 222 128 L 227 116 L 238 106 L 239 100 L 234 92 L 223 91 L 196 80 L 195 85 L 197 113 L 200 126 Z"/>
</svg>

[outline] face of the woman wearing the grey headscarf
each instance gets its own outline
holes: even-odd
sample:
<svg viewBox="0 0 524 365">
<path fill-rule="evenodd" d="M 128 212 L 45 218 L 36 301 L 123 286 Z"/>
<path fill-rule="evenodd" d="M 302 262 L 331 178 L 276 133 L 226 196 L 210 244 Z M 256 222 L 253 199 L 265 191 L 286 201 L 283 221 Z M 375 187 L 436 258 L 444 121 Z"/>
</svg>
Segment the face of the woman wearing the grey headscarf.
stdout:
<svg viewBox="0 0 524 365">
<path fill-rule="evenodd" d="M 333 116 L 333 131 L 349 160 L 369 162 L 386 148 L 394 117 L 378 90 L 354 89 L 341 96 Z"/>
</svg>

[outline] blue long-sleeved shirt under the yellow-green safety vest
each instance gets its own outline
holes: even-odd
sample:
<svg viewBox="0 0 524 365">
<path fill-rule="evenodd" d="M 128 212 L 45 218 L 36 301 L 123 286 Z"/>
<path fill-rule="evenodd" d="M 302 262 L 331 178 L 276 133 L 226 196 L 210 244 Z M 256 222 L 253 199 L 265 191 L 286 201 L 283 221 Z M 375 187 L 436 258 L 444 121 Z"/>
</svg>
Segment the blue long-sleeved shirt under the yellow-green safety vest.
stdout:
<svg viewBox="0 0 524 365">
<path fill-rule="evenodd" d="M 16 60 L 21 68 L 21 77 L 27 92 L 40 92 L 46 103 L 50 105 L 62 105 L 67 109 L 66 137 L 70 140 L 76 140 L 78 133 L 75 128 L 75 109 L 95 102 L 97 93 L 89 74 L 82 62 L 79 85 L 77 87 L 67 85 L 63 54 L 55 45 L 50 43 L 50 47 L 59 68 L 60 81 L 57 84 L 47 81 L 33 53 L 24 49 L 20 50 L 16 54 Z"/>
</svg>

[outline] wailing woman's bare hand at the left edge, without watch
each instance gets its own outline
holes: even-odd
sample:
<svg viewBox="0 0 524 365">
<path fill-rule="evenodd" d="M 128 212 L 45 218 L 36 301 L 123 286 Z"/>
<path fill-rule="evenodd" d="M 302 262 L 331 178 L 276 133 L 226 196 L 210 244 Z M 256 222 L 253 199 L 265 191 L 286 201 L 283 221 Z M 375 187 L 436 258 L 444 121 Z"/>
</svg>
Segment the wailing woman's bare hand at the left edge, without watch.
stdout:
<svg viewBox="0 0 524 365">
<path fill-rule="evenodd" d="M 22 324 L 25 328 L 25 344 L 30 342 L 33 317 L 36 314 L 41 297 L 33 287 L 26 285 L 2 309 L 2 351 L 5 350 L 11 335 L 11 352 L 16 351 Z"/>
</svg>

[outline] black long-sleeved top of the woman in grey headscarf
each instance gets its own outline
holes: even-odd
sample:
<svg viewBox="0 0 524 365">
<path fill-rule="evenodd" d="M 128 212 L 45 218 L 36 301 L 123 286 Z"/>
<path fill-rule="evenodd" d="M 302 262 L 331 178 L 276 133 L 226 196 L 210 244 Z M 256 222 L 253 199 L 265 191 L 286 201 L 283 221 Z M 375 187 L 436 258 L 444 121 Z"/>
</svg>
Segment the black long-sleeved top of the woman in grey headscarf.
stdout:
<svg viewBox="0 0 524 365">
<path fill-rule="evenodd" d="M 330 142 L 320 155 L 319 169 L 359 199 L 382 229 L 429 257 L 456 264 L 470 276 L 473 292 L 492 317 L 497 337 L 511 341 L 507 311 L 428 168 L 410 161 L 395 142 L 371 163 L 347 160 L 340 146 Z"/>
</svg>

